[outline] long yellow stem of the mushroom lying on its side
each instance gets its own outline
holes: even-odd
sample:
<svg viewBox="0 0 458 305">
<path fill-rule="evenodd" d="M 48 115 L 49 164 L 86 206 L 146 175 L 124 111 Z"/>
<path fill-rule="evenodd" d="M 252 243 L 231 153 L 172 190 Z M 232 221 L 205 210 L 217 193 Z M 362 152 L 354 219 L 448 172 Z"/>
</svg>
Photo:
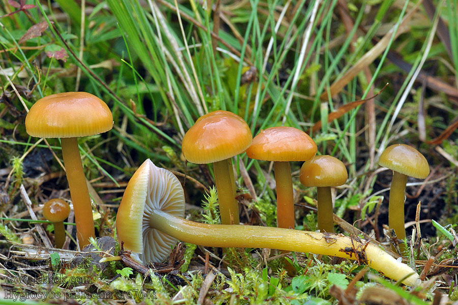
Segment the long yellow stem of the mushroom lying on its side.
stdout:
<svg viewBox="0 0 458 305">
<path fill-rule="evenodd" d="M 308 252 L 358 260 L 393 280 L 416 285 L 418 274 L 373 243 L 361 243 L 341 234 L 299 231 L 294 229 L 209 225 L 192 222 L 153 209 L 150 226 L 185 242 L 206 247 L 270 248 Z"/>
</svg>

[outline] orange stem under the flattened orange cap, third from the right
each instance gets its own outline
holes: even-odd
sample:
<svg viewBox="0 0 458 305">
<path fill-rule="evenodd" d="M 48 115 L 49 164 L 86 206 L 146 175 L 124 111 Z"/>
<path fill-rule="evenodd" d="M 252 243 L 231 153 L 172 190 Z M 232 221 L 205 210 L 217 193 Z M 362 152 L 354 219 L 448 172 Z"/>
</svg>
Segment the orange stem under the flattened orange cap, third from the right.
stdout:
<svg viewBox="0 0 458 305">
<path fill-rule="evenodd" d="M 293 180 L 290 162 L 274 162 L 277 189 L 277 227 L 294 229 Z"/>
</svg>

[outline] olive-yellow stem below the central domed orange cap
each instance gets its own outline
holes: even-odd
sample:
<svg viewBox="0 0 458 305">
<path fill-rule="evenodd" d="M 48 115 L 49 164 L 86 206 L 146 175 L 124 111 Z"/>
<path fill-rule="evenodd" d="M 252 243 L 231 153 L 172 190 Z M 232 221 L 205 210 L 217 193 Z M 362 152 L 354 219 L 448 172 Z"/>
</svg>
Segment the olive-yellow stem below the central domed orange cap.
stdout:
<svg viewBox="0 0 458 305">
<path fill-rule="evenodd" d="M 222 160 L 213 163 L 215 172 L 216 190 L 218 192 L 219 212 L 221 215 L 221 223 L 223 225 L 231 225 L 240 223 L 239 206 L 235 199 L 234 178 L 231 178 L 232 167 L 227 160 Z M 234 177 L 234 172 L 232 172 Z"/>
</svg>

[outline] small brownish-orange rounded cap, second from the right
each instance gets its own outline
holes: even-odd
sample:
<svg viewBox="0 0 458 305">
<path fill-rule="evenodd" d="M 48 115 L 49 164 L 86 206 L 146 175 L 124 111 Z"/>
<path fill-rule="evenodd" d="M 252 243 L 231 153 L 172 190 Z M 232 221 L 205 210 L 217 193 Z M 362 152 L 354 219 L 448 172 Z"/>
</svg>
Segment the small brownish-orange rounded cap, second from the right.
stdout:
<svg viewBox="0 0 458 305">
<path fill-rule="evenodd" d="M 337 187 L 345 184 L 347 179 L 344 163 L 328 155 L 305 161 L 299 173 L 299 180 L 306 187 Z"/>
</svg>

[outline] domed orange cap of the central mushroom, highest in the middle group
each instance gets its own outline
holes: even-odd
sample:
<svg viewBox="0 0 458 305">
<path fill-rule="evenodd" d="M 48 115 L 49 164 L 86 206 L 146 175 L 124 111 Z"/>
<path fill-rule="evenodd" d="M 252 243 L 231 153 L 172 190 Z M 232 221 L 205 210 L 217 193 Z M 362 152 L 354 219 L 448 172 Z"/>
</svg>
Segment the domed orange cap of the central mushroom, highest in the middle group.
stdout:
<svg viewBox="0 0 458 305">
<path fill-rule="evenodd" d="M 213 163 L 243 153 L 253 137 L 237 114 L 216 110 L 199 117 L 181 143 L 183 156 L 196 164 Z"/>
</svg>

